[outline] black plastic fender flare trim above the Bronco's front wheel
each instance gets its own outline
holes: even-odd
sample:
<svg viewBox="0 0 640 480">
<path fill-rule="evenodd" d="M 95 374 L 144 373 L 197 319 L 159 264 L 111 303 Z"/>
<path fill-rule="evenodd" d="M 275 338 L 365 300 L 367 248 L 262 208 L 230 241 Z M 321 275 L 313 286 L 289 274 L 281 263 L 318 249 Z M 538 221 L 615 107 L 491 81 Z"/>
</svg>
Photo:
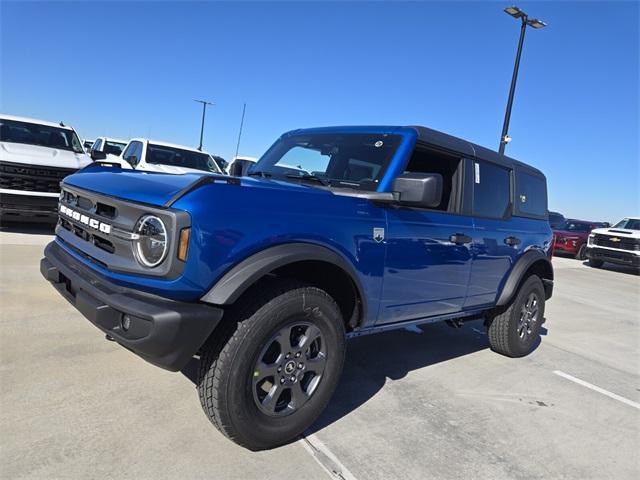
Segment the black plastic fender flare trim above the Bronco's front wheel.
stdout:
<svg viewBox="0 0 640 480">
<path fill-rule="evenodd" d="M 200 300 L 214 305 L 232 304 L 259 278 L 276 268 L 305 260 L 327 262 L 344 270 L 362 301 L 362 318 L 367 318 L 366 296 L 353 267 L 337 253 L 311 243 L 277 245 L 246 258 L 216 282 Z"/>
</svg>

